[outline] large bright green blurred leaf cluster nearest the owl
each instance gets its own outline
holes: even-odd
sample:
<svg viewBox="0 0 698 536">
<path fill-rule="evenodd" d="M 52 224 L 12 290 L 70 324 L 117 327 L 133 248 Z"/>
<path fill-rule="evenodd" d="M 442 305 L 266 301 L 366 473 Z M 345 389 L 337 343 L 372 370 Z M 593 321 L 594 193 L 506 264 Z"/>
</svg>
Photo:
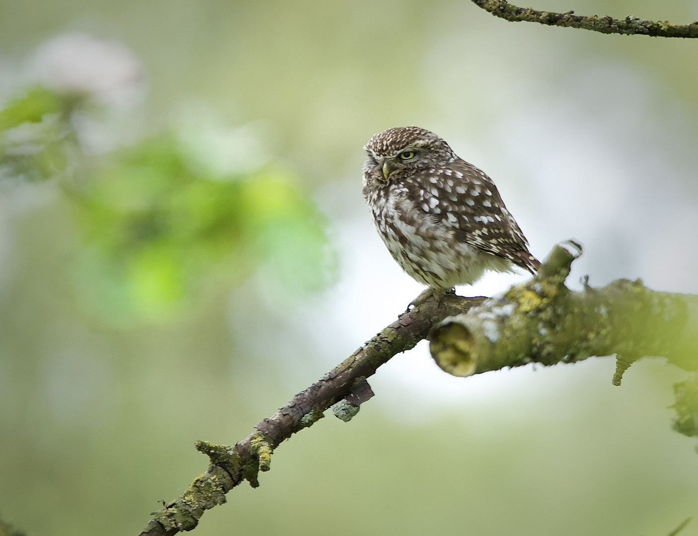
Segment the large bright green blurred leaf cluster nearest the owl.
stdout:
<svg viewBox="0 0 698 536">
<path fill-rule="evenodd" d="M 324 222 L 290 174 L 221 181 L 201 169 L 162 136 L 115 155 L 76 192 L 89 245 L 80 286 L 91 307 L 112 319 L 168 319 L 261 263 L 293 292 L 329 282 Z"/>
</svg>

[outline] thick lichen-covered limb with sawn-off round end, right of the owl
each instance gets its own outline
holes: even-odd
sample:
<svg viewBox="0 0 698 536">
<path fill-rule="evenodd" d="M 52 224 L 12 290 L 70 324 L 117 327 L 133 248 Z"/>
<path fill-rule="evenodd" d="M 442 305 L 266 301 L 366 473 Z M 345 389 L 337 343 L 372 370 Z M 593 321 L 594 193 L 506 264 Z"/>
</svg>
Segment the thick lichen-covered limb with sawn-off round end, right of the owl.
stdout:
<svg viewBox="0 0 698 536">
<path fill-rule="evenodd" d="M 617 385 L 644 355 L 698 369 L 698 296 L 652 291 L 640 280 L 570 291 L 565 278 L 580 253 L 558 246 L 530 282 L 445 319 L 431 334 L 437 364 L 454 376 L 470 376 L 616 354 Z"/>
</svg>

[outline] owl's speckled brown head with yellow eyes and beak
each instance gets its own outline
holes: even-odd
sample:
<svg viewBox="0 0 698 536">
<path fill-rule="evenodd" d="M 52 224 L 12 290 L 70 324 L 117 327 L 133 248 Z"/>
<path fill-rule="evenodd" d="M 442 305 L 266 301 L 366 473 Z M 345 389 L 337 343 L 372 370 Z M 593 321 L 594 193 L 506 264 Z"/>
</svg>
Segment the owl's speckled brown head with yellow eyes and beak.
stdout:
<svg viewBox="0 0 698 536">
<path fill-rule="evenodd" d="M 364 146 L 366 180 L 388 183 L 403 171 L 439 167 L 456 158 L 448 144 L 429 130 L 396 127 L 374 134 Z"/>
</svg>

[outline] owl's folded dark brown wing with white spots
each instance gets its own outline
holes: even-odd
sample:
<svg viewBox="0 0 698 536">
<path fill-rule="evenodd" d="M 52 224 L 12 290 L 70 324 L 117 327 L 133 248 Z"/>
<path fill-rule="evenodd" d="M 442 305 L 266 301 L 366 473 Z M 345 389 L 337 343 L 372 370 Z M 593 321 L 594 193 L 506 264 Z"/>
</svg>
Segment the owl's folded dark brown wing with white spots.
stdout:
<svg viewBox="0 0 698 536">
<path fill-rule="evenodd" d="M 540 262 L 528 252 L 528 241 L 505 207 L 496 186 L 483 171 L 456 159 L 419 174 L 410 197 L 426 213 L 454 231 L 463 243 L 506 259 L 530 273 Z"/>
</svg>

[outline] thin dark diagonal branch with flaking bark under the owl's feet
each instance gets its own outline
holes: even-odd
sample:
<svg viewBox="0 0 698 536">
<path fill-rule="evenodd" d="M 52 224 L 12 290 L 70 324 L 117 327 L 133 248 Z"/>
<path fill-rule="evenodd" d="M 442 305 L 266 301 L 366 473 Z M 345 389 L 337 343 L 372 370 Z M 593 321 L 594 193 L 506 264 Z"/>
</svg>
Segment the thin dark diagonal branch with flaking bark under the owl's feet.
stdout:
<svg viewBox="0 0 698 536">
<path fill-rule="evenodd" d="M 373 393 L 366 378 L 397 353 L 409 350 L 426 338 L 431 328 L 447 316 L 466 312 L 485 298 L 462 298 L 447 294 L 430 299 L 406 312 L 320 381 L 283 406 L 271 418 L 255 426 L 255 433 L 233 447 L 198 441 L 196 449 L 209 457 L 209 468 L 176 500 L 153 513 L 140 536 L 173 535 L 192 530 L 202 514 L 225 503 L 225 493 L 247 480 L 257 487 L 259 471 L 269 470 L 272 452 L 295 432 L 311 426 L 333 407 L 335 415 L 349 420 L 359 404 Z"/>
</svg>

